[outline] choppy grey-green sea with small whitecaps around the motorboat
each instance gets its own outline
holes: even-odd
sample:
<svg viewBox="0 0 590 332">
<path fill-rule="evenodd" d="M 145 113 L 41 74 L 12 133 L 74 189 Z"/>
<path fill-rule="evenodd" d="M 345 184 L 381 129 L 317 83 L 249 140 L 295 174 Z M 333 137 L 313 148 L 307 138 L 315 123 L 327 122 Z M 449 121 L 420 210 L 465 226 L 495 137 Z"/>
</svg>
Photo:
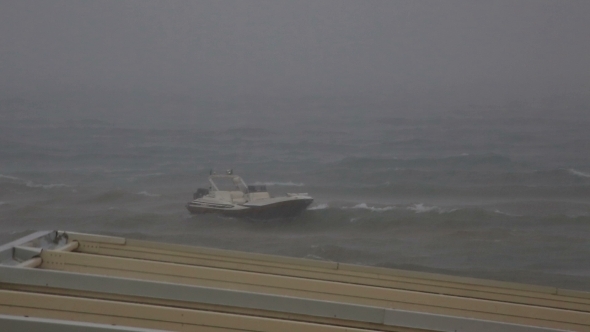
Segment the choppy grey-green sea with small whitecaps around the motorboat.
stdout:
<svg viewBox="0 0 590 332">
<path fill-rule="evenodd" d="M 0 243 L 60 229 L 590 291 L 588 117 L 48 105 L 0 103 Z M 211 168 L 315 201 L 190 215 Z"/>
</svg>

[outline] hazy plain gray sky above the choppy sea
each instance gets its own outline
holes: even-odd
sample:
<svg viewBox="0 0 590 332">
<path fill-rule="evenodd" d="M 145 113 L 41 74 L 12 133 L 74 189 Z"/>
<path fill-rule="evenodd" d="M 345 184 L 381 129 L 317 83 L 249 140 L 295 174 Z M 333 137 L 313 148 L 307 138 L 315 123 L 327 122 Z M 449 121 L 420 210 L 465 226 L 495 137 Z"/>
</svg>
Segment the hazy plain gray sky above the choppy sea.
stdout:
<svg viewBox="0 0 590 332">
<path fill-rule="evenodd" d="M 590 91 L 590 1 L 0 2 L 0 94 Z"/>
</svg>

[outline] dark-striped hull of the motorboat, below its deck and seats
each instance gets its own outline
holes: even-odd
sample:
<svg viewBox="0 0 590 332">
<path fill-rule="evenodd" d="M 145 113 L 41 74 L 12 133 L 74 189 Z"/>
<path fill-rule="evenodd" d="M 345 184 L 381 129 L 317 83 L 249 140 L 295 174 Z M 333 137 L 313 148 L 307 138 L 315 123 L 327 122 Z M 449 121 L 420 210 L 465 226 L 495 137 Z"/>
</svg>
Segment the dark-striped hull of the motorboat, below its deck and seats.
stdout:
<svg viewBox="0 0 590 332">
<path fill-rule="evenodd" d="M 192 214 L 219 213 L 231 217 L 273 219 L 295 217 L 305 210 L 312 202 L 313 199 L 300 199 L 278 202 L 265 206 L 253 206 L 243 210 L 211 209 L 192 206 L 190 204 L 187 204 L 186 208 Z"/>
</svg>

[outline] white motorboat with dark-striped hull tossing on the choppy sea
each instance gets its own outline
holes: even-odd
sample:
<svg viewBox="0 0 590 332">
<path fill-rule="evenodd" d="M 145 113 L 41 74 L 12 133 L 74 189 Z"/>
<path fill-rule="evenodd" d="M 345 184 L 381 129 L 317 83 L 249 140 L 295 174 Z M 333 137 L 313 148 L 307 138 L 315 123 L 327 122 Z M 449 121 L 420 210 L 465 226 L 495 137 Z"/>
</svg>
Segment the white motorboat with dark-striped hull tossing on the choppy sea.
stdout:
<svg viewBox="0 0 590 332">
<path fill-rule="evenodd" d="M 220 182 L 224 187 L 220 189 Z M 220 213 L 235 217 L 282 218 L 300 214 L 312 202 L 307 193 L 271 197 L 265 185 L 246 185 L 232 171 L 209 175 L 211 186 L 199 188 L 186 208 L 194 214 Z"/>
</svg>

